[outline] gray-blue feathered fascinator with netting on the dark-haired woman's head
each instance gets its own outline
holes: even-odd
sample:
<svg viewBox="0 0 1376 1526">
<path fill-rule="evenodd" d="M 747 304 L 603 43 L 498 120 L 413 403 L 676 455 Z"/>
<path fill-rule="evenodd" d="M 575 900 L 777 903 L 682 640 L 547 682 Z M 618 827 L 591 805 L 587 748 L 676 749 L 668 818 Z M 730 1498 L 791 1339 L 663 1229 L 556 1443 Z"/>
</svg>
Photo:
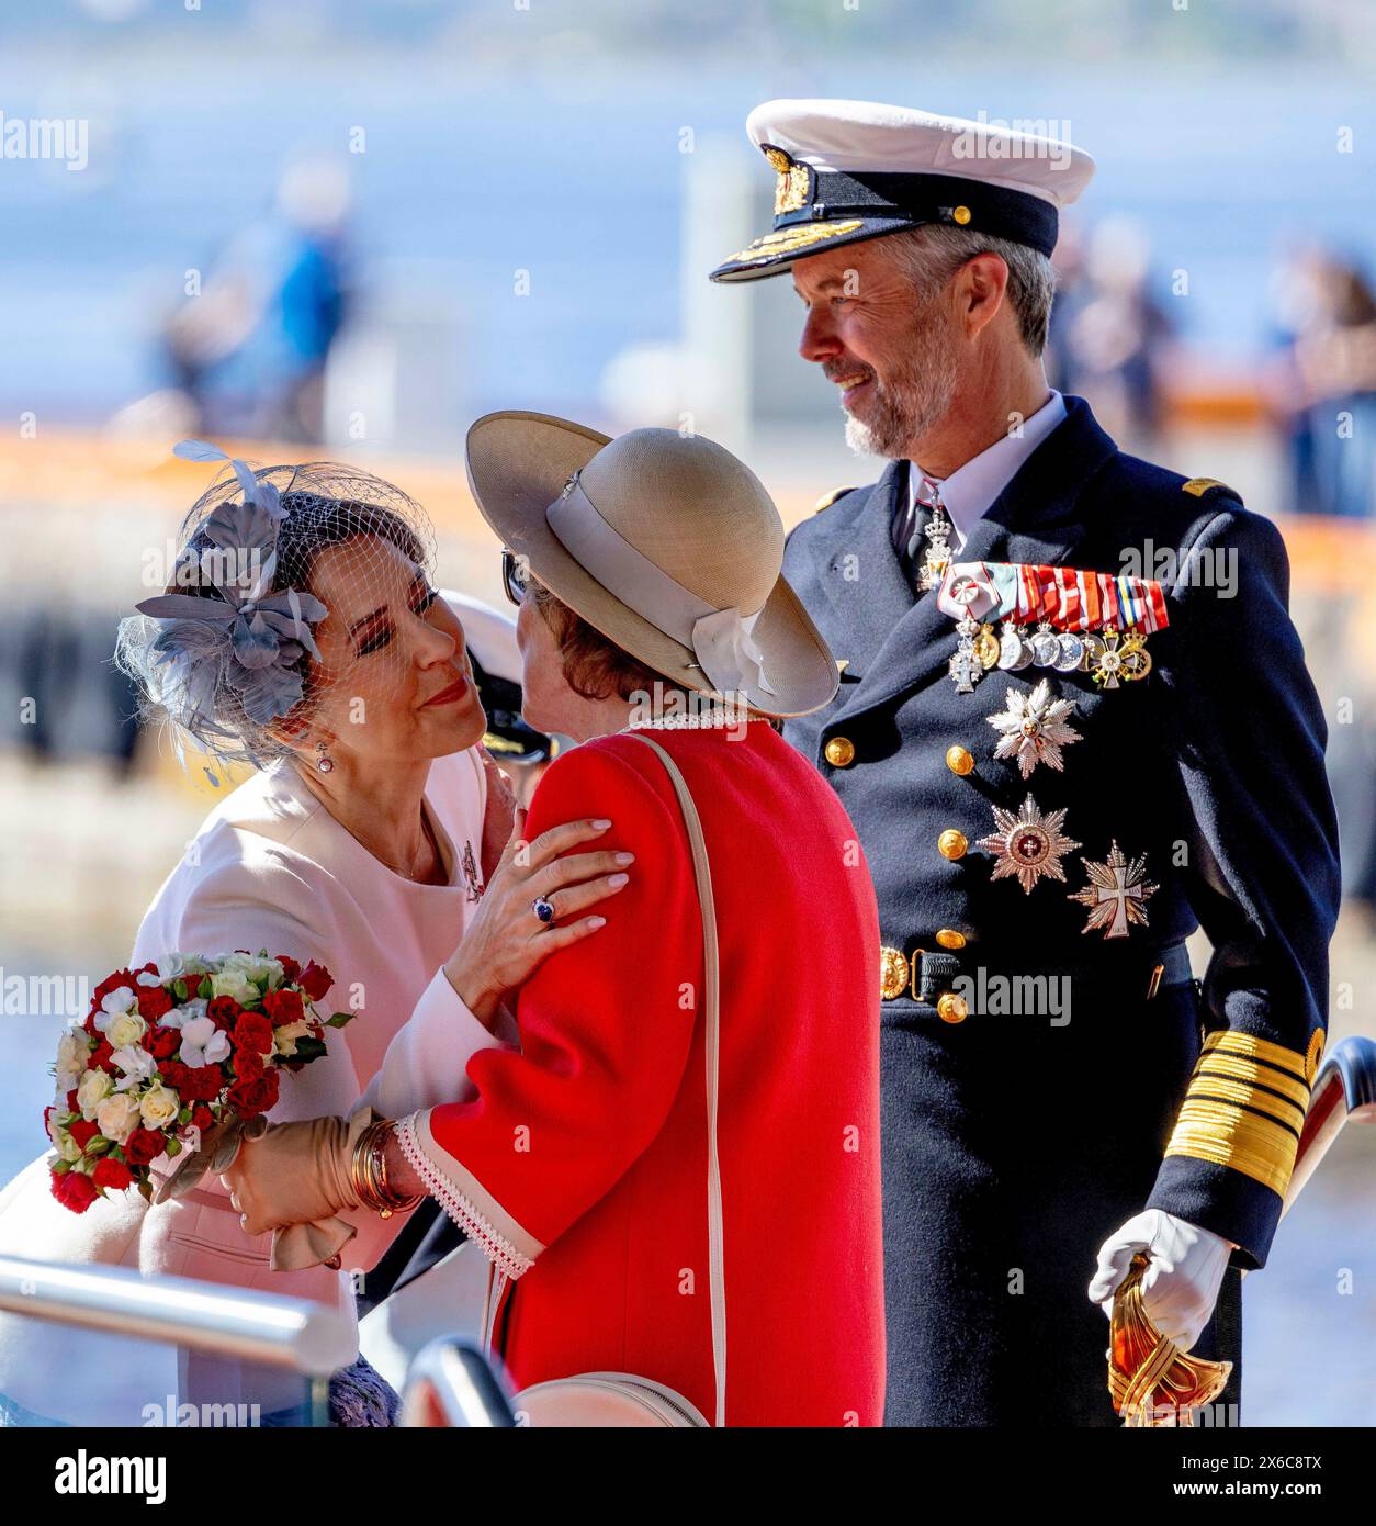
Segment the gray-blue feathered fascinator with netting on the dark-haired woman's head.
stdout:
<svg viewBox="0 0 1376 1526">
<path fill-rule="evenodd" d="M 255 470 L 198 439 L 174 455 L 229 472 L 183 520 L 165 591 L 121 621 L 116 662 L 139 684 L 145 716 L 172 723 L 183 761 L 185 734 L 221 763 L 262 768 L 291 751 L 279 722 L 307 713 L 346 671 L 355 688 L 387 690 L 386 655 L 366 668 L 362 659 L 322 664 L 316 638 L 330 609 L 311 591 L 320 554 L 365 548 L 352 568 L 368 607 L 371 583 L 378 603 L 395 586 L 397 554 L 407 577 L 413 568 L 429 580 L 433 530 L 406 493 L 354 467 Z"/>
</svg>

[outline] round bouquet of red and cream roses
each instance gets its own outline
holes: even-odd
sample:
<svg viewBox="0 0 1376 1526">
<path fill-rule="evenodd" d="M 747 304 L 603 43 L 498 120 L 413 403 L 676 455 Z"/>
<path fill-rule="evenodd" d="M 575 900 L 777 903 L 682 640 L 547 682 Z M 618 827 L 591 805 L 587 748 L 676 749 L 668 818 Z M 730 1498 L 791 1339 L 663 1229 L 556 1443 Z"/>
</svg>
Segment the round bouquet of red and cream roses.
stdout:
<svg viewBox="0 0 1376 1526">
<path fill-rule="evenodd" d="M 191 1158 L 159 1201 L 194 1187 L 276 1103 L 282 1071 L 319 1059 L 325 1029 L 351 1021 L 352 1012 L 316 1012 L 333 984 L 314 961 L 244 949 L 171 954 L 102 980 L 85 1021 L 58 1042 L 56 1100 L 44 1109 L 58 1202 L 84 1213 L 125 1187 L 153 1201 L 153 1163 L 183 1152 Z"/>
</svg>

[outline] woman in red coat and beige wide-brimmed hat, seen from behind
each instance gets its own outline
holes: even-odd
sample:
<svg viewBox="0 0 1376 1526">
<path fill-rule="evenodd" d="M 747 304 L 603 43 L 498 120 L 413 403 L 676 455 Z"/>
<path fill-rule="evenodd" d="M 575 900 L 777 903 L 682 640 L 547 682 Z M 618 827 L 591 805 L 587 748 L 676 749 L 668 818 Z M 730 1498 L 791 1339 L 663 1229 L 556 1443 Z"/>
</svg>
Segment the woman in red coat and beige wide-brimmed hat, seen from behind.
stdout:
<svg viewBox="0 0 1376 1526">
<path fill-rule="evenodd" d="M 229 1177 L 247 1227 L 430 1193 L 506 1288 L 497 1338 L 520 1387 L 632 1373 L 711 1418 L 725 1373 L 726 1424 L 879 1425 L 879 931 L 850 818 L 769 719 L 836 690 L 780 575 L 778 511 L 734 456 L 673 430 L 609 443 L 490 415 L 468 450 L 511 548 L 523 714 L 581 742 L 447 971 L 490 1029 L 514 1000 L 519 1048 L 477 1051 L 464 1100 L 362 1140 L 323 1120 L 247 1146 Z M 693 852 L 641 736 L 679 766 L 711 867 L 715 1170 Z M 581 818 L 610 819 L 598 850 L 633 855 L 601 917 L 577 916 L 590 888 L 558 888 L 575 858 L 522 848 Z"/>
</svg>

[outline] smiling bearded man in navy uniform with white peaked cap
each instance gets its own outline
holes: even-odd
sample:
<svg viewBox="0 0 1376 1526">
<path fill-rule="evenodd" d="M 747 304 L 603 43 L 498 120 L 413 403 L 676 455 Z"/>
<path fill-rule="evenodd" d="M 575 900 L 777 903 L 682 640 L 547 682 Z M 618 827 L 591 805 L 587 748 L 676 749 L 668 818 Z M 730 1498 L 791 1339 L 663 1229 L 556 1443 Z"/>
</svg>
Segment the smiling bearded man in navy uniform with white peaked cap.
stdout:
<svg viewBox="0 0 1376 1526">
<path fill-rule="evenodd" d="M 841 667 L 786 736 L 885 945 L 886 1422 L 1112 1425 L 1094 1305 L 1136 1253 L 1161 1334 L 1237 1363 L 1324 1042 L 1336 832 L 1284 546 L 1046 386 L 1086 154 L 854 101 L 747 131 L 773 230 L 712 279 L 792 273 L 888 458 L 784 557 Z"/>
</svg>

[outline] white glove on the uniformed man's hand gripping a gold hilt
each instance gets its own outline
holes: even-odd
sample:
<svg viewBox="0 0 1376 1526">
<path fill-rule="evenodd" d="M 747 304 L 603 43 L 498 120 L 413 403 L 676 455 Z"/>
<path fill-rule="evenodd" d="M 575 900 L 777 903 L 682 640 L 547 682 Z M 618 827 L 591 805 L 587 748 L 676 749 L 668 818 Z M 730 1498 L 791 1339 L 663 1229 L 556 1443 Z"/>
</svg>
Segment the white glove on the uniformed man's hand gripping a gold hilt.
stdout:
<svg viewBox="0 0 1376 1526">
<path fill-rule="evenodd" d="M 1146 1209 L 1100 1247 L 1089 1300 L 1112 1315 L 1114 1293 L 1127 1276 L 1132 1257 L 1146 1251 L 1152 1264 L 1143 1273 L 1147 1318 L 1181 1351 L 1190 1351 L 1214 1311 L 1233 1250 L 1233 1241 L 1198 1224 L 1161 1209 Z"/>
</svg>

